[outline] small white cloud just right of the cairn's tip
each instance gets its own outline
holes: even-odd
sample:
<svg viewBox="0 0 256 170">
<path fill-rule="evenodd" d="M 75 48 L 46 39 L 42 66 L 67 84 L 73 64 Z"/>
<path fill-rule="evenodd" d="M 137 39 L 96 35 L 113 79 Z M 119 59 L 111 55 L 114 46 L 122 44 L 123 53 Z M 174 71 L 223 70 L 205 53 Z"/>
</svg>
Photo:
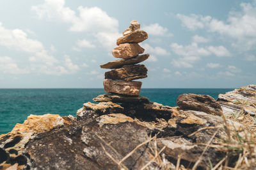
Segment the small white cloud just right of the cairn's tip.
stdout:
<svg viewBox="0 0 256 170">
<path fill-rule="evenodd" d="M 167 33 L 168 29 L 166 27 L 162 27 L 158 23 L 146 25 L 143 27 L 143 30 L 153 36 L 172 36 L 172 34 Z"/>
</svg>

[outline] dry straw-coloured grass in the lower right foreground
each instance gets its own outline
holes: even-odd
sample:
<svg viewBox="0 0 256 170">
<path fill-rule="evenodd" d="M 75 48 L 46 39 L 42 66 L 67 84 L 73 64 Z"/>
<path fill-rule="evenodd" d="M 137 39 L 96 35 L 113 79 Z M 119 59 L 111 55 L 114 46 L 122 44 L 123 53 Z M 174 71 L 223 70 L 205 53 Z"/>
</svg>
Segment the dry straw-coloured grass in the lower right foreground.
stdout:
<svg viewBox="0 0 256 170">
<path fill-rule="evenodd" d="M 201 146 L 203 145 L 205 146 L 205 148 L 198 160 L 193 163 L 193 170 L 198 168 L 198 164 L 200 164 L 200 162 L 202 161 L 204 153 L 207 151 L 208 148 L 216 148 L 216 150 L 225 153 L 225 156 L 223 158 L 220 158 L 221 160 L 217 164 L 212 164 L 211 160 L 209 160 L 209 169 L 256 169 L 256 117 L 246 115 L 242 110 L 241 112 L 230 115 L 230 117 L 227 118 L 235 122 L 239 122 L 243 125 L 243 127 L 241 129 L 236 129 L 234 125 L 227 124 L 227 120 L 223 115 L 223 130 L 225 133 L 223 134 L 223 131 L 221 131 L 221 139 L 216 138 L 216 134 L 218 134 L 218 132 L 220 132 L 221 130 L 220 127 L 203 127 L 189 135 L 193 136 L 196 133 L 205 129 L 217 129 L 214 134 L 212 134 L 212 138 L 207 143 L 196 144 Z M 113 152 L 116 153 L 115 148 L 111 147 L 111 145 L 109 146 L 109 144 L 106 143 L 106 141 L 104 141 L 103 139 L 102 143 L 104 143 L 106 146 L 111 148 Z M 150 166 L 151 164 L 154 164 L 154 167 L 156 169 L 186 170 L 186 167 L 184 167 L 184 165 L 180 163 L 180 160 L 182 159 L 180 155 L 177 157 L 177 162 L 175 165 L 165 159 L 164 153 L 162 153 L 165 146 L 161 149 L 157 147 L 157 136 L 150 136 L 147 141 L 136 146 L 134 150 L 132 150 L 120 160 L 116 159 L 115 157 L 113 157 L 113 155 L 108 153 L 104 145 L 101 144 L 104 152 L 106 152 L 106 155 L 108 155 L 108 157 L 117 164 L 119 169 L 128 169 L 124 165 L 124 161 L 128 157 L 131 157 L 131 155 L 143 145 L 148 146 L 150 161 L 148 161 L 145 166 L 141 167 L 141 170 L 152 169 L 152 166 Z"/>
</svg>

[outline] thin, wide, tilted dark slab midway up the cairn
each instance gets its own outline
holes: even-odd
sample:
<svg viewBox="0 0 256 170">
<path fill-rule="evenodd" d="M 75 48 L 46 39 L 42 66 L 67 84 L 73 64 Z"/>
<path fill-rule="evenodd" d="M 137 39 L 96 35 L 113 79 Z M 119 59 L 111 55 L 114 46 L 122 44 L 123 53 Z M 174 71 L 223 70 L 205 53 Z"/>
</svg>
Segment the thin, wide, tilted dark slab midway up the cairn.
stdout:
<svg viewBox="0 0 256 170">
<path fill-rule="evenodd" d="M 149 57 L 149 54 L 147 53 L 143 55 L 138 55 L 136 57 L 132 57 L 130 59 L 120 59 L 120 60 L 107 62 L 106 64 L 100 65 L 100 67 L 102 67 L 103 69 L 115 69 L 125 65 L 137 64 L 137 63 L 143 62 L 144 60 L 147 60 L 148 57 Z"/>
</svg>

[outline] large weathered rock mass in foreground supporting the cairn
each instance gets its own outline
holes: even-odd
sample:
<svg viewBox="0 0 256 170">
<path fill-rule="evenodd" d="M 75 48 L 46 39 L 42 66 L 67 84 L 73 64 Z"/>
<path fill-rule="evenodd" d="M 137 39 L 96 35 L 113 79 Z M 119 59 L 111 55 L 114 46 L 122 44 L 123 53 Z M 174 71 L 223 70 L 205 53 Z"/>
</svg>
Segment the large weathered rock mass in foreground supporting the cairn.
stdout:
<svg viewBox="0 0 256 170">
<path fill-rule="evenodd" d="M 252 90 L 252 86 L 245 87 L 239 93 L 253 94 Z M 19 125 L 20 131 L 13 129 L 1 135 L 0 169 L 17 169 L 18 164 L 18 169 L 174 170 L 179 157 L 180 164 L 188 169 L 200 158 L 196 169 L 211 169 L 211 164 L 225 159 L 227 150 L 237 145 L 227 143 L 227 128 L 221 117 L 159 103 L 84 103 L 77 119 L 61 118 L 47 115 L 30 121 L 30 117 Z M 249 135 L 242 124 L 226 122 L 229 136 L 244 139 Z M 255 141 L 250 141 L 250 148 L 255 150 Z M 239 154 L 232 152 L 233 158 Z M 250 159 L 255 156 L 246 161 Z M 240 169 L 250 169 L 246 164 Z M 225 166 L 234 167 L 236 161 L 230 160 Z"/>
</svg>

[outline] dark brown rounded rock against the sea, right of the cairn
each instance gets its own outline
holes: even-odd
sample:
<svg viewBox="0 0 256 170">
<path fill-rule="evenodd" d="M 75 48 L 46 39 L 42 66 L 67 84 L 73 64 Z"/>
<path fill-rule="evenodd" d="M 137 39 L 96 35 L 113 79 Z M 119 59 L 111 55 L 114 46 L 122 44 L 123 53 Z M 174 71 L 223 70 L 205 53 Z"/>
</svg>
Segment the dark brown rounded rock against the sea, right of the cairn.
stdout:
<svg viewBox="0 0 256 170">
<path fill-rule="evenodd" d="M 218 116 L 223 114 L 220 104 L 209 95 L 181 94 L 176 103 L 181 110 L 203 111 Z"/>
</svg>

